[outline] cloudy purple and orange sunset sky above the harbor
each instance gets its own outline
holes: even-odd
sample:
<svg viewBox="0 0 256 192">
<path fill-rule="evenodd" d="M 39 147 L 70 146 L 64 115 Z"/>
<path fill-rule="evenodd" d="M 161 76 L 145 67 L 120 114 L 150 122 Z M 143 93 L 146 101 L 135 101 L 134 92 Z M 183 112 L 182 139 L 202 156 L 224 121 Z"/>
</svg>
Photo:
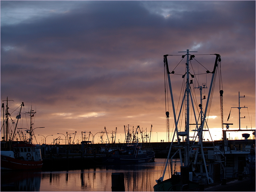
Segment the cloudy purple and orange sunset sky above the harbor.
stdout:
<svg viewBox="0 0 256 192">
<path fill-rule="evenodd" d="M 248 107 L 241 109 L 241 128 L 255 129 L 255 1 L 60 0 L 0 5 L 1 101 L 7 96 L 14 100 L 9 101 L 10 110 L 24 102 L 20 128 L 28 127 L 26 112 L 31 107 L 37 112 L 33 127 L 45 127 L 34 130 L 38 143 L 43 136 L 50 135 L 50 143 L 75 131 L 75 141 L 91 131 L 96 143 L 104 127 L 108 137 L 117 127 L 116 141 L 123 141 L 128 124 L 130 129 L 139 125 L 148 134 L 152 125 L 151 142 L 166 141 L 163 55 L 181 55 L 185 53 L 178 52 L 187 49 L 221 56 L 224 123 L 238 129 L 238 109 L 232 108 L 226 120 L 231 107 L 238 107 L 240 92 L 245 95 L 241 106 Z M 174 58 L 168 57 L 171 70 L 182 59 Z M 195 59 L 212 69 L 215 56 Z M 185 60 L 179 65 L 182 69 L 175 70 L 185 70 L 184 66 Z M 172 78 L 182 81 L 181 76 Z M 174 88 L 178 96 L 180 88 Z M 218 92 L 216 84 L 208 122 L 213 140 L 222 137 Z M 2 116 L 1 111 L 1 125 Z M 170 116 L 171 133 L 172 127 Z M 241 139 L 241 134 L 229 136 Z"/>
</svg>

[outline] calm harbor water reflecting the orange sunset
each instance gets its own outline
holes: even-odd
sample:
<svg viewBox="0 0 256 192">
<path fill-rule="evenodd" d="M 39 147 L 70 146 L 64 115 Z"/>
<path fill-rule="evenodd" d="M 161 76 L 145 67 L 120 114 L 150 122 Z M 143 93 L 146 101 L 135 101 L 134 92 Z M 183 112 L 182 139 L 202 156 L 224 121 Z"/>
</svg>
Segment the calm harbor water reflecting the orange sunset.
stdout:
<svg viewBox="0 0 256 192">
<path fill-rule="evenodd" d="M 3 186 L 15 189 L 10 191 L 111 191 L 111 175 L 117 172 L 124 173 L 125 191 L 154 191 L 164 161 L 56 172 L 1 171 L 1 191 Z"/>
</svg>

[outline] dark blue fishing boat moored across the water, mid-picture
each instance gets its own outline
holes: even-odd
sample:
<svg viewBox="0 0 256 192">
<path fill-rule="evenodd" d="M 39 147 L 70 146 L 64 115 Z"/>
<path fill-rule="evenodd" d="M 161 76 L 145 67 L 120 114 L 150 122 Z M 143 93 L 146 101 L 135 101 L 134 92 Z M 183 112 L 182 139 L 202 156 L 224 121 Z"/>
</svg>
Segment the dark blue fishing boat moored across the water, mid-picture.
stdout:
<svg viewBox="0 0 256 192">
<path fill-rule="evenodd" d="M 155 152 L 153 148 L 150 147 L 147 142 L 144 142 L 142 132 L 139 125 L 137 126 L 135 132 L 130 131 L 129 125 L 126 132 L 126 142 L 122 147 L 112 147 L 107 151 L 107 156 L 103 158 L 103 162 L 106 164 L 137 164 L 137 163 L 148 163 L 154 161 Z M 151 125 L 152 129 L 152 125 Z M 139 143 L 139 133 L 142 139 L 142 143 Z M 147 133 L 145 138 L 147 137 Z M 149 140 L 150 141 L 150 140 Z"/>
</svg>

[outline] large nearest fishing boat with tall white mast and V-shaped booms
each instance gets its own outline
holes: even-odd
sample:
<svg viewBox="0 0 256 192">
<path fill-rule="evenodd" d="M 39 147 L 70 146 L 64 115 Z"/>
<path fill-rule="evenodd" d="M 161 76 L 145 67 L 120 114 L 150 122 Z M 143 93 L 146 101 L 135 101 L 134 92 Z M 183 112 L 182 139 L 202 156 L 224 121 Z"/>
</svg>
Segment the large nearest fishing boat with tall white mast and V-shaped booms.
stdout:
<svg viewBox="0 0 256 192">
<path fill-rule="evenodd" d="M 165 79 L 168 79 L 166 80 L 166 82 L 168 82 L 166 83 L 166 89 L 169 89 L 171 97 L 174 132 L 171 140 L 169 136 L 170 113 L 166 111 L 166 124 L 170 148 L 163 172 L 160 178 L 156 179 L 157 184 L 154 186 L 154 191 L 193 190 L 193 188 L 200 188 L 199 184 L 211 184 L 225 178 L 225 156 L 223 152 L 220 151 L 219 147 L 216 147 L 213 142 L 211 142 L 212 145 L 209 146 L 209 142 L 204 142 L 203 140 L 204 133 L 210 133 L 207 121 L 210 104 L 213 100 L 213 90 L 218 74 L 217 69 L 221 62 L 220 55 L 210 54 L 215 55 L 213 71 L 210 72 L 207 70 L 209 66 L 205 67 L 199 63 L 195 59 L 195 55 L 190 54 L 191 52 L 196 51 L 189 51 L 187 49 L 185 55 L 180 55 L 182 60 L 186 57 L 185 74 L 176 74 L 174 71 L 169 71 L 170 66 L 168 66 L 167 56 L 173 57 L 179 55 L 163 56 Z M 204 72 L 198 69 L 198 74 L 195 74 L 195 68 L 193 68 L 194 66 L 192 65 L 194 63 L 200 64 L 198 66 L 203 66 L 204 68 L 202 70 L 204 70 Z M 175 66 L 178 67 L 178 65 Z M 190 71 L 190 69 L 193 69 L 193 72 L 191 72 L 192 70 Z M 209 88 L 206 83 L 203 83 L 202 86 L 199 85 L 198 80 L 203 79 L 201 77 L 199 78 L 201 74 L 203 74 L 204 77 L 210 75 L 211 83 Z M 179 103 L 174 102 L 174 95 L 177 94 L 177 92 L 174 92 L 172 88 L 171 75 L 172 77 L 181 76 L 181 79 L 183 79 L 182 87 L 184 90 L 179 92 L 184 94 L 180 95 Z M 195 83 L 193 83 L 193 79 L 195 79 Z M 174 81 L 173 85 L 176 86 L 176 79 L 172 80 Z M 207 89 L 208 96 L 202 96 Z M 222 93 L 222 90 L 220 90 L 220 93 Z M 199 100 L 196 100 L 197 97 L 199 97 Z M 178 107 L 175 106 L 175 104 Z M 205 146 L 204 143 L 208 143 L 208 146 Z M 178 167 L 176 165 L 178 163 L 180 164 L 180 172 L 176 171 L 176 167 Z M 170 175 L 171 178 L 164 180 L 164 176 L 167 175 L 166 168 L 168 164 L 170 166 L 168 175 Z"/>
</svg>

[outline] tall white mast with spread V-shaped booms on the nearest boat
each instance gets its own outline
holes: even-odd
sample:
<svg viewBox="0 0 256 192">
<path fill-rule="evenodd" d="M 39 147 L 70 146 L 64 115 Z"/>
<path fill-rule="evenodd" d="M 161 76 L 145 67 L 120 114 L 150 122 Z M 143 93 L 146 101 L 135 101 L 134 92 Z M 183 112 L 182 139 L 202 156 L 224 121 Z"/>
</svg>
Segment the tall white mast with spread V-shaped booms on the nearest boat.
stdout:
<svg viewBox="0 0 256 192">
<path fill-rule="evenodd" d="M 202 100 L 206 99 L 206 97 L 204 96 L 202 98 L 202 89 L 206 89 L 207 87 L 206 87 L 206 84 L 203 84 L 203 87 L 202 86 L 197 87 L 200 90 L 200 104 L 199 104 L 200 120 L 197 121 L 197 117 L 196 117 L 196 113 L 195 113 L 195 107 L 194 107 L 194 103 L 193 103 L 193 97 L 192 97 L 192 94 L 191 94 L 192 92 L 191 92 L 191 88 L 190 88 L 190 84 L 193 83 L 193 80 L 189 79 L 189 76 L 191 76 L 191 78 L 194 78 L 194 75 L 189 72 L 189 70 L 190 70 L 189 62 L 190 62 L 190 60 L 192 60 L 195 57 L 194 55 L 190 55 L 189 53 L 190 52 L 197 52 L 197 51 L 189 51 L 189 49 L 187 49 L 186 51 L 181 51 L 181 52 L 186 53 L 185 55 L 182 55 L 182 58 L 185 58 L 185 56 L 187 56 L 187 60 L 186 60 L 186 64 L 185 64 L 186 65 L 186 72 L 185 72 L 184 75 L 182 75 L 182 78 L 186 78 L 185 79 L 186 83 L 185 83 L 185 92 L 184 92 L 184 95 L 183 95 L 183 98 L 182 98 L 180 111 L 177 112 L 177 114 L 176 114 L 176 110 L 175 110 L 175 106 L 174 106 L 174 97 L 173 97 L 173 92 L 172 92 L 172 87 L 171 87 L 171 80 L 170 80 L 170 74 L 174 74 L 175 72 L 174 71 L 172 71 L 172 72 L 169 71 L 168 62 L 167 62 L 167 56 L 169 56 L 169 55 L 164 55 L 164 66 L 166 66 L 166 70 L 167 70 L 167 78 L 168 78 L 170 96 L 171 96 L 171 101 L 172 101 L 171 103 L 172 103 L 173 117 L 174 117 L 174 123 L 175 123 L 175 132 L 173 134 L 173 138 L 172 138 L 172 142 L 171 142 L 171 145 L 170 145 L 170 148 L 169 148 L 167 159 L 169 159 L 169 157 L 170 157 L 171 150 L 172 150 L 172 145 L 174 143 L 174 137 L 176 135 L 177 136 L 176 141 L 178 143 L 177 146 L 180 145 L 180 140 L 181 140 L 180 137 L 185 137 L 185 142 L 184 142 L 185 145 L 182 146 L 182 148 L 185 150 L 184 162 L 183 162 L 183 158 L 182 158 L 181 149 L 178 149 L 175 152 L 175 154 L 180 154 L 181 166 L 189 166 L 189 164 L 190 164 L 190 162 L 189 162 L 189 151 L 190 151 L 189 150 L 189 144 L 190 144 L 190 141 L 189 141 L 189 126 L 190 126 L 190 123 L 189 123 L 189 104 L 191 102 L 191 107 L 193 109 L 192 113 L 194 113 L 195 122 L 196 122 L 195 125 L 196 125 L 196 128 L 197 128 L 196 130 L 192 130 L 192 131 L 198 131 L 197 136 L 194 137 L 194 138 L 198 137 L 198 144 L 197 144 L 198 147 L 197 147 L 197 150 L 196 150 L 196 157 L 195 157 L 194 165 L 197 162 L 197 156 L 199 154 L 199 149 L 200 149 L 201 150 L 200 154 L 201 154 L 201 156 L 203 158 L 203 161 L 204 161 L 204 163 L 203 163 L 204 168 L 206 170 L 206 177 L 207 177 L 208 182 L 211 183 L 211 182 L 213 182 L 213 180 L 209 177 L 209 174 L 207 172 L 207 165 L 206 165 L 206 160 L 205 160 L 204 151 L 203 151 L 203 143 L 202 143 L 202 131 L 204 131 L 203 128 L 204 128 L 204 124 L 206 123 L 206 114 L 207 114 L 208 106 L 209 106 L 211 96 L 212 96 L 211 95 L 212 88 L 213 88 L 213 85 L 214 85 L 214 82 L 215 82 L 214 81 L 215 80 L 215 78 L 214 78 L 215 77 L 215 70 L 217 69 L 218 62 L 220 62 L 220 55 L 214 54 L 214 55 L 216 55 L 216 59 L 215 59 L 213 72 L 210 72 L 208 70 L 206 71 L 206 73 L 212 73 L 212 79 L 211 79 L 211 84 L 210 84 L 209 93 L 208 93 L 207 102 L 206 102 L 204 112 L 203 112 L 203 107 L 202 107 Z M 182 114 L 183 109 L 185 109 L 185 131 L 179 131 L 178 122 L 180 120 L 180 115 Z M 166 112 L 166 116 L 169 117 L 169 112 Z M 181 124 L 184 125 L 183 123 L 181 123 Z M 199 128 L 198 128 L 198 125 L 200 125 Z M 195 143 L 196 139 L 193 139 L 193 141 Z M 172 162 L 173 161 L 170 160 L 171 174 L 173 173 L 172 172 Z M 156 180 L 157 183 L 159 181 L 163 181 L 165 171 L 166 171 L 166 168 L 167 168 L 167 164 L 168 164 L 168 161 L 165 162 L 162 177 L 160 177 L 158 180 Z"/>
</svg>

